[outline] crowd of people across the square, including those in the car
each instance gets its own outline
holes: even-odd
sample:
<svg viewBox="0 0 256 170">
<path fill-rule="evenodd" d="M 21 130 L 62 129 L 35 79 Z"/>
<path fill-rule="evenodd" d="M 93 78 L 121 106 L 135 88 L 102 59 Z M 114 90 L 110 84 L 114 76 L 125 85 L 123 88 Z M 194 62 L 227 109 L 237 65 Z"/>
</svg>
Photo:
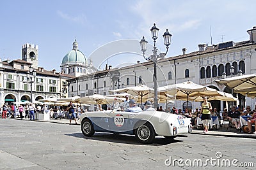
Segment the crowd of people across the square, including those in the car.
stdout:
<svg viewBox="0 0 256 170">
<path fill-rule="evenodd" d="M 20 118 L 29 118 L 30 120 L 35 120 L 35 111 L 44 113 L 44 110 L 48 110 L 47 106 L 43 104 L 42 106 L 35 104 L 26 104 L 22 106 L 16 107 L 14 104 L 6 105 L 3 104 L 1 108 L 2 118 L 6 117 L 17 117 L 19 115 Z M 141 111 L 155 111 L 152 108 L 152 103 L 150 101 L 146 101 L 143 103 L 143 107 L 137 106 L 136 102 L 133 99 L 129 99 L 129 96 L 125 96 L 125 101 L 123 103 L 118 103 L 117 99 L 111 104 L 111 108 L 109 107 L 108 110 L 118 110 L 118 111 L 127 111 L 127 112 L 141 112 Z M 221 116 L 223 120 L 230 121 L 230 124 L 234 125 L 237 130 L 242 128 L 240 117 L 247 116 L 248 121 L 248 134 L 256 134 L 256 129 L 253 132 L 252 125 L 256 125 L 256 111 L 251 110 L 250 106 L 246 107 L 246 110 L 241 110 L 241 108 L 236 108 L 236 106 L 231 106 L 230 111 L 227 108 L 224 109 L 222 115 L 218 112 L 217 108 L 213 108 L 211 103 L 207 101 L 207 97 L 204 97 L 204 102 L 200 108 L 196 108 L 195 111 L 192 111 L 191 108 L 185 108 L 184 111 L 182 109 L 177 109 L 173 106 L 172 110 L 167 108 L 163 110 L 162 106 L 157 107 L 157 111 L 165 111 L 167 113 L 173 113 L 177 115 L 183 115 L 184 117 L 191 118 L 191 123 L 194 127 L 197 124 L 198 117 L 201 118 L 203 126 L 204 126 L 204 133 L 208 133 L 209 125 L 211 117 L 218 117 L 219 121 L 221 120 Z M 71 120 L 75 120 L 77 124 L 77 120 L 79 119 L 79 115 L 86 112 L 87 110 L 81 109 L 79 106 L 75 107 L 70 101 L 67 107 L 64 108 L 51 108 L 49 109 L 50 118 L 69 118 L 70 124 Z M 98 104 L 96 111 L 102 111 L 102 107 Z M 17 114 L 19 113 L 19 114 Z M 221 124 L 220 124 L 221 125 Z"/>
</svg>

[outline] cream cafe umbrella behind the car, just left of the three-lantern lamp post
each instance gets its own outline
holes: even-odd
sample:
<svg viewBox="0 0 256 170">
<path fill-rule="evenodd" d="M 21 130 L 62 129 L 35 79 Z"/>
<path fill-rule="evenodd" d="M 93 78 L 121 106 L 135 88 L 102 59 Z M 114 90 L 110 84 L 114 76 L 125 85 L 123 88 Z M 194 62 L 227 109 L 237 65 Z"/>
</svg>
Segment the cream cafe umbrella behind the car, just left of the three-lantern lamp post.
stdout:
<svg viewBox="0 0 256 170">
<path fill-rule="evenodd" d="M 143 99 L 154 97 L 154 89 L 147 87 L 147 85 L 125 87 L 123 89 L 109 90 L 109 92 L 126 92 L 132 96 L 138 96 L 140 104 L 142 103 Z"/>
</svg>

